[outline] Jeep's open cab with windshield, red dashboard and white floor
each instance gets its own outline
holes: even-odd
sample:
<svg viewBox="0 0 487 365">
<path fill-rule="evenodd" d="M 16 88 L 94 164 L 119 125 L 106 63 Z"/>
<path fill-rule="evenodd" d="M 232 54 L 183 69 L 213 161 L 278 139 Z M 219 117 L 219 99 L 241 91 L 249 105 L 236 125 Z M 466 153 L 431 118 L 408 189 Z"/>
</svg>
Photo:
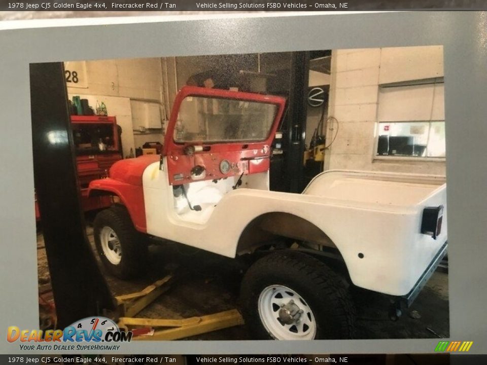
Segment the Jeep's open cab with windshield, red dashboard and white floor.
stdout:
<svg viewBox="0 0 487 365">
<path fill-rule="evenodd" d="M 233 99 L 247 94 L 212 91 L 226 97 L 185 96 L 167 132 L 172 137 L 167 165 L 175 211 L 199 224 L 225 194 L 239 187 L 269 189 L 269 146 L 283 108 L 276 100 Z"/>
</svg>

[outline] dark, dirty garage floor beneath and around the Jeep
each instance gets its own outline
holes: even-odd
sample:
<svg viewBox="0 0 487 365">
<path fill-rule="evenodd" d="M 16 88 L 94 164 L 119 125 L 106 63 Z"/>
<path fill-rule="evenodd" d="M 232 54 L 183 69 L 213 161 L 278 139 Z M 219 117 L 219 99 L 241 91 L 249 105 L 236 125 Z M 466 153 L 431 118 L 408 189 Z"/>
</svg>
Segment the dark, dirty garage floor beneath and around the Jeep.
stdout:
<svg viewBox="0 0 487 365">
<path fill-rule="evenodd" d="M 92 228 L 88 238 L 93 246 Z M 49 282 L 42 234 L 38 235 L 40 285 Z M 106 273 L 114 295 L 139 291 L 173 270 L 176 274 L 165 294 L 143 310 L 139 317 L 185 318 L 212 314 L 237 307 L 239 283 L 245 266 L 236 260 L 197 251 L 178 244 L 150 246 L 150 263 L 141 279 L 121 281 Z M 357 338 L 401 339 L 449 337 L 448 275 L 435 272 L 427 286 L 398 321 L 388 318 L 388 298 L 360 288 L 352 291 L 357 307 Z M 413 318 L 419 314 L 420 318 Z M 245 325 L 207 333 L 189 340 L 251 340 Z"/>
</svg>

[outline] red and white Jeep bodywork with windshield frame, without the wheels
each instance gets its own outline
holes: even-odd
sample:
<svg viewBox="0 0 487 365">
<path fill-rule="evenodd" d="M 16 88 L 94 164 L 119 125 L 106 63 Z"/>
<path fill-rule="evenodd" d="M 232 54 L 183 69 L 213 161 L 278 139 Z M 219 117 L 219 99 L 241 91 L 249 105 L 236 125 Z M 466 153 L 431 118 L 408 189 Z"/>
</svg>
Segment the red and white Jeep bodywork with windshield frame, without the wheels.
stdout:
<svg viewBox="0 0 487 365">
<path fill-rule="evenodd" d="M 196 105 L 192 98 L 206 94 L 236 100 L 243 110 L 249 100 L 274 103 L 273 125 L 258 141 L 178 142 L 177 133 L 186 133 L 183 127 L 178 130 L 181 103 L 189 99 Z M 214 105 L 201 105 L 208 113 L 220 113 Z M 110 178 L 92 181 L 90 191 L 118 195 L 135 229 L 155 237 L 230 258 L 285 237 L 307 249 L 337 250 L 357 286 L 393 296 L 411 293 L 446 248 L 444 177 L 326 171 L 301 194 L 270 191 L 270 144 L 283 109 L 284 100 L 276 97 L 184 88 L 160 159 L 120 161 Z M 207 128 L 213 122 L 205 123 Z M 218 166 L 224 160 L 232 169 L 223 173 Z M 196 175 L 195 167 L 204 173 Z M 175 194 L 177 189 L 185 194 Z M 425 209 L 430 207 L 437 216 L 426 232 Z"/>
</svg>

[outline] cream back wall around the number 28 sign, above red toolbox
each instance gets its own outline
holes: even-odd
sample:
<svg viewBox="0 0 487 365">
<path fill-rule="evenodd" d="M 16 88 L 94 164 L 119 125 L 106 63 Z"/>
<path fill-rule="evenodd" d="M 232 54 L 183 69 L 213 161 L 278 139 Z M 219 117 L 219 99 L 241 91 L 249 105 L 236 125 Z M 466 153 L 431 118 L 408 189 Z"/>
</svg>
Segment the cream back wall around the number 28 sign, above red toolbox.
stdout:
<svg viewBox="0 0 487 365">
<path fill-rule="evenodd" d="M 159 131 L 145 134 L 133 132 L 130 107 L 131 99 L 155 102 L 166 99 L 162 65 L 160 58 L 76 62 L 78 69 L 83 69 L 79 76 L 84 80 L 80 80 L 81 85 L 78 86 L 81 87 L 67 83 L 69 99 L 80 95 L 89 100 L 93 109 L 97 100 L 105 102 L 109 115 L 117 117 L 117 123 L 122 127 L 123 154 L 127 156 L 130 149 L 135 151 L 146 141 L 162 141 L 163 136 Z"/>
</svg>

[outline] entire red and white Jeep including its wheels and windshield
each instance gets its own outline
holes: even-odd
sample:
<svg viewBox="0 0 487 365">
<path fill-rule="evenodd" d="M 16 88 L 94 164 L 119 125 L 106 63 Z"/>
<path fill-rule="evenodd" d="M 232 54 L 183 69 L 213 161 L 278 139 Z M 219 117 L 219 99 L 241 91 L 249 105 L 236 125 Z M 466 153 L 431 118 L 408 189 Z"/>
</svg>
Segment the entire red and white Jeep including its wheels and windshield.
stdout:
<svg viewBox="0 0 487 365">
<path fill-rule="evenodd" d="M 141 271 L 147 237 L 229 258 L 260 252 L 240 289 L 258 338 L 351 338 L 349 282 L 409 304 L 443 258 L 444 177 L 334 170 L 301 194 L 270 191 L 285 103 L 183 87 L 161 155 L 119 161 L 109 178 L 91 181 L 90 194 L 120 202 L 97 214 L 95 243 L 120 278 Z M 330 257 L 346 275 L 326 264 Z"/>
</svg>

